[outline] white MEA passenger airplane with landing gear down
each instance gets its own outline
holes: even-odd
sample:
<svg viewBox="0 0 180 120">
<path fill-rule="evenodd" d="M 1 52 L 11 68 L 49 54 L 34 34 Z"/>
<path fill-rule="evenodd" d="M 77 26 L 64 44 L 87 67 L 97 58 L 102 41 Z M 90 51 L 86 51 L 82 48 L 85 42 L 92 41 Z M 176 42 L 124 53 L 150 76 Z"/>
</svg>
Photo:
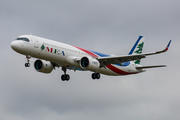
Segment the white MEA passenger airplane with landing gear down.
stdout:
<svg viewBox="0 0 180 120">
<path fill-rule="evenodd" d="M 147 68 L 165 67 L 165 65 L 142 66 L 140 60 L 149 55 L 166 52 L 164 50 L 142 54 L 144 37 L 139 36 L 128 55 L 107 55 L 73 45 L 57 42 L 34 35 L 21 35 L 12 41 L 11 48 L 26 56 L 25 67 L 30 67 L 30 58 L 37 58 L 34 68 L 41 73 L 51 73 L 55 67 L 61 67 L 62 81 L 69 81 L 69 70 L 92 71 L 92 79 L 100 79 L 100 74 L 110 76 L 131 75 L 145 72 Z"/>
</svg>

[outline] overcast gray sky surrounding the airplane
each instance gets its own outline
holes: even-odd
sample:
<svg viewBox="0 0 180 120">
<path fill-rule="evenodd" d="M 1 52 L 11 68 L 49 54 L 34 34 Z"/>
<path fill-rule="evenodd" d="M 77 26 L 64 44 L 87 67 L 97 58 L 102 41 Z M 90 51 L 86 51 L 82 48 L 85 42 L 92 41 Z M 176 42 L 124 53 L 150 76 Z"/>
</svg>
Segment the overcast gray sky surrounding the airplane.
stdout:
<svg viewBox="0 0 180 120">
<path fill-rule="evenodd" d="M 0 0 L 1 120 L 179 120 L 179 0 Z M 143 52 L 165 54 L 142 60 L 166 64 L 130 76 L 105 76 L 61 69 L 38 73 L 10 43 L 33 34 L 98 52 L 128 54 L 139 35 Z"/>
</svg>

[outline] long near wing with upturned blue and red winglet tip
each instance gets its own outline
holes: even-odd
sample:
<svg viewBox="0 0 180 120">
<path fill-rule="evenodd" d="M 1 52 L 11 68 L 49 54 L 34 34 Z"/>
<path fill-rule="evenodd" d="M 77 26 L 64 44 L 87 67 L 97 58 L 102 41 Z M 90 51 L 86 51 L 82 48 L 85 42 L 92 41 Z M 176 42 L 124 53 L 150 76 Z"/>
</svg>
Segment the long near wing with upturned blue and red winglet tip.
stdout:
<svg viewBox="0 0 180 120">
<path fill-rule="evenodd" d="M 171 40 L 169 41 L 167 47 L 164 50 L 152 52 L 152 53 L 146 53 L 146 54 L 137 54 L 137 55 L 124 55 L 124 56 L 117 56 L 117 57 L 99 57 L 97 60 L 101 63 L 101 67 L 104 67 L 109 64 L 117 64 L 119 63 L 122 65 L 123 62 L 138 60 L 140 61 L 142 58 L 146 58 L 148 55 L 155 55 L 160 54 L 163 52 L 166 52 L 170 46 Z"/>
</svg>

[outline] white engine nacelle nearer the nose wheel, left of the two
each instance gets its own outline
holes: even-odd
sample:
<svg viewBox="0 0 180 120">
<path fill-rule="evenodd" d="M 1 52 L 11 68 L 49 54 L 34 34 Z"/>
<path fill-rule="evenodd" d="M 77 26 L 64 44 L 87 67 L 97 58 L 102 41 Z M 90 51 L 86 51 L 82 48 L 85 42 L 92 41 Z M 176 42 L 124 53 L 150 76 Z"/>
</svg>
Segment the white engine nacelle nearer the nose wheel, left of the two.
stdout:
<svg viewBox="0 0 180 120">
<path fill-rule="evenodd" d="M 36 60 L 36 61 L 34 62 L 34 68 L 35 68 L 38 72 L 51 73 L 54 67 L 53 67 L 53 65 L 51 64 L 51 62 L 49 62 L 49 61 Z"/>
</svg>

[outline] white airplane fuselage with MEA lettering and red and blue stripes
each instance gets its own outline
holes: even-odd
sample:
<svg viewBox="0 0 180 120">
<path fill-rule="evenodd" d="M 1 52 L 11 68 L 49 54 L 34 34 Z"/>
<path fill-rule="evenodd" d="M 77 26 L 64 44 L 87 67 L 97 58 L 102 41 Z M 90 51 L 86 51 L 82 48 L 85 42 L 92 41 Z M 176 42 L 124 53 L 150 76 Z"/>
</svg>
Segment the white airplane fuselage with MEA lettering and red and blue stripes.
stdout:
<svg viewBox="0 0 180 120">
<path fill-rule="evenodd" d="M 69 69 L 83 70 L 80 68 L 76 59 L 84 56 L 91 57 L 92 59 L 101 57 L 101 54 L 97 52 L 33 35 L 23 35 L 20 37 L 28 38 L 29 41 L 13 41 L 11 47 L 16 52 L 57 63 L 59 66 Z M 142 70 L 137 70 L 136 67 L 137 65 L 133 61 L 130 61 L 124 63 L 124 65 L 110 64 L 106 67 L 100 67 L 90 71 L 106 75 L 128 75 L 142 72 Z"/>
</svg>

